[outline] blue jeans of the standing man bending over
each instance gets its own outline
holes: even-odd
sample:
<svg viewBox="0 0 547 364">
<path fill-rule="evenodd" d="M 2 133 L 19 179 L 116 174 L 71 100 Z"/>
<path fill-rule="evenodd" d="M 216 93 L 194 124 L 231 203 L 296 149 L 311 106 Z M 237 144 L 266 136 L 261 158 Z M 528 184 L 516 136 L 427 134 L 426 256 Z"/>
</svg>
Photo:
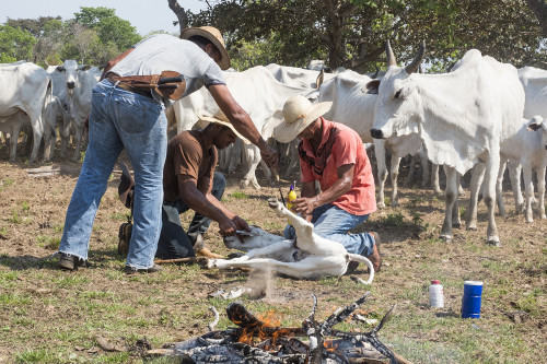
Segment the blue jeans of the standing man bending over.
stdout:
<svg viewBox="0 0 547 364">
<path fill-rule="evenodd" d="M 127 266 L 154 265 L 162 226 L 167 119 L 162 104 L 103 80 L 93 89 L 90 140 L 67 211 L 59 250 L 88 259 L 93 221 L 125 148 L 135 172 L 133 227 Z"/>
</svg>

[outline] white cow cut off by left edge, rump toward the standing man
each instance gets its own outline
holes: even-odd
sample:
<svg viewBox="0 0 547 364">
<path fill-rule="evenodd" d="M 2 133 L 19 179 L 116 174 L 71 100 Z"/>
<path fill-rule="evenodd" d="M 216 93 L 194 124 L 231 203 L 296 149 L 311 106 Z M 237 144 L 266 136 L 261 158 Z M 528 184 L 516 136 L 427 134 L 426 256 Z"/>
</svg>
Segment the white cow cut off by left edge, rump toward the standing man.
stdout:
<svg viewBox="0 0 547 364">
<path fill-rule="evenodd" d="M 44 161 L 50 158 L 51 130 L 46 105 L 54 101 L 51 79 L 47 72 L 32 63 L 20 61 L 0 64 L 0 126 L 10 133 L 10 158 L 15 160 L 16 144 L 21 127 L 30 122 L 33 130 L 34 145 L 31 162 L 36 161 L 42 137 L 44 137 Z M 7 130 L 3 129 L 5 127 Z"/>
</svg>

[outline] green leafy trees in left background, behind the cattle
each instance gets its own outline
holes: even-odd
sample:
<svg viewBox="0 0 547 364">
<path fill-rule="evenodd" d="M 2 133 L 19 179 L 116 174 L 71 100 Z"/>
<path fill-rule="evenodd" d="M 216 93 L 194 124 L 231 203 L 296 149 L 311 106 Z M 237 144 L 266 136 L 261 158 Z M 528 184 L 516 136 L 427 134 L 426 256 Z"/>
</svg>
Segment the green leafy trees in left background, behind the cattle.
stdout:
<svg viewBox="0 0 547 364">
<path fill-rule="evenodd" d="M 0 26 L 1 62 L 26 59 L 45 66 L 75 59 L 102 66 L 141 39 L 130 22 L 102 7 L 82 7 L 67 21 L 60 16 L 8 19 Z"/>
</svg>

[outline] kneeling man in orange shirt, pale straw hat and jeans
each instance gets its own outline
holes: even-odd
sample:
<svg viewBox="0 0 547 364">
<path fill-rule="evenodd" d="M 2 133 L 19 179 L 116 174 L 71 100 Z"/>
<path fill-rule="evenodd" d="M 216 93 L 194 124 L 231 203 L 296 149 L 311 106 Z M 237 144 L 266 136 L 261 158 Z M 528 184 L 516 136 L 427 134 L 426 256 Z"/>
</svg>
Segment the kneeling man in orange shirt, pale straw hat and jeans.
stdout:
<svg viewBox="0 0 547 364">
<path fill-rule="evenodd" d="M 292 211 L 311 221 L 317 235 L 369 258 L 377 272 L 382 265 L 379 234 L 348 234 L 376 210 L 370 161 L 356 131 L 322 117 L 331 105 L 312 104 L 300 95 L 291 97 L 283 106 L 284 121 L 274 130 L 280 142 L 301 140 L 302 197 L 292 202 Z M 316 180 L 321 193 L 315 189 Z M 292 226 L 286 227 L 284 237 L 295 237 Z"/>
</svg>

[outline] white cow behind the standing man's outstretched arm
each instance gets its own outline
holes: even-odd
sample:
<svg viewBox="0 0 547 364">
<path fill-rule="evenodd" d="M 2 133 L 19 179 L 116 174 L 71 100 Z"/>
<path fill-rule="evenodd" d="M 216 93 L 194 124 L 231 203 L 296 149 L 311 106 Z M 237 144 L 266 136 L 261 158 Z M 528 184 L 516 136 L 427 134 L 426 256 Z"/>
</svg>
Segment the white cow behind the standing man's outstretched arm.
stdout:
<svg viewBox="0 0 547 364">
<path fill-rule="evenodd" d="M 287 98 L 303 94 L 309 90 L 280 83 L 261 66 L 243 72 L 224 72 L 224 77 L 234 99 L 247 111 L 265 140 L 271 137 L 277 121 L 271 116 L 276 111 L 281 113 Z M 219 110 L 206 87 L 175 102 L 173 108 L 177 120 L 177 133 L 191 129 L 200 116 L 213 116 Z M 271 122 L 268 122 L 270 120 Z M 242 185 L 251 184 L 259 189 L 260 185 L 256 180 L 255 171 L 261 161 L 260 152 L 253 144 L 245 144 L 244 149 L 249 168 L 242 179 Z M 263 169 L 266 179 L 270 181 L 270 172 L 264 163 Z"/>
</svg>

